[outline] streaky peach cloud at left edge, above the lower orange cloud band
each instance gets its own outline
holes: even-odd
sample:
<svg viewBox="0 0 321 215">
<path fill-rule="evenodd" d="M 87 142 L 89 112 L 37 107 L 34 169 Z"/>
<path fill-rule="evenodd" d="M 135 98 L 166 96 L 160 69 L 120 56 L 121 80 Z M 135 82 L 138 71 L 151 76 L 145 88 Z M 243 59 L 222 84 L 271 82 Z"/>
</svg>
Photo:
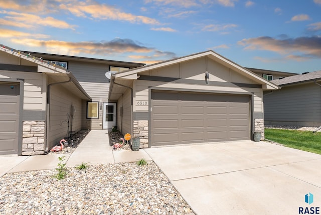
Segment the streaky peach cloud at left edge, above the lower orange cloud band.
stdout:
<svg viewBox="0 0 321 215">
<path fill-rule="evenodd" d="M 60 29 L 75 30 L 76 26 L 69 25 L 65 21 L 57 20 L 53 17 L 41 18 L 32 14 L 24 14 L 17 12 L 0 11 L 0 14 L 6 14 L 5 19 L 1 19 L 1 23 L 7 26 L 33 28 L 35 26 L 49 26 Z"/>
</svg>

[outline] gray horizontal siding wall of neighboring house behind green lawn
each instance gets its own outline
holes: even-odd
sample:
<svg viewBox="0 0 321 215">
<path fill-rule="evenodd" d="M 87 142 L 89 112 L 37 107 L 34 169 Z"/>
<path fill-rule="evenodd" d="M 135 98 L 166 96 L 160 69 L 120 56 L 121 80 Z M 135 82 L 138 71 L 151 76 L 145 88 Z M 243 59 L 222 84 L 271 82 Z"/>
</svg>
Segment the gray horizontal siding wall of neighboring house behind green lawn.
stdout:
<svg viewBox="0 0 321 215">
<path fill-rule="evenodd" d="M 314 83 L 282 87 L 264 96 L 265 121 L 321 125 L 320 99 L 321 88 Z"/>
</svg>

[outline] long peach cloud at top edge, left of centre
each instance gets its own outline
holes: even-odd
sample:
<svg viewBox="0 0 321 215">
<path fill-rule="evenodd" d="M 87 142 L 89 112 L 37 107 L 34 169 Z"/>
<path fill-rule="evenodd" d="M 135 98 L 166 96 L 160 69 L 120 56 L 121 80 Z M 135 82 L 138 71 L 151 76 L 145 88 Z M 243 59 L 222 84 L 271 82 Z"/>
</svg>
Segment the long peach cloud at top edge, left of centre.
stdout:
<svg viewBox="0 0 321 215">
<path fill-rule="evenodd" d="M 122 12 L 121 10 L 105 4 L 98 4 L 93 1 L 86 2 L 69 2 L 59 6 L 61 10 L 67 10 L 77 17 L 97 19 L 97 20 L 119 20 L 130 23 L 143 23 L 159 25 L 160 23 L 152 18 L 144 16 L 136 16 L 130 13 Z"/>
</svg>

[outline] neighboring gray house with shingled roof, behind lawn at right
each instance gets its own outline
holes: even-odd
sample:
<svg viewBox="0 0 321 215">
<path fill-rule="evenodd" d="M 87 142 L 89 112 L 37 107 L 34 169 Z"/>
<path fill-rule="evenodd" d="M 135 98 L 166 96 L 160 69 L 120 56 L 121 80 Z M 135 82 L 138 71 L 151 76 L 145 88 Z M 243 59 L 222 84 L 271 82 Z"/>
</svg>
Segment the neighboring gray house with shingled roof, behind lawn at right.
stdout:
<svg viewBox="0 0 321 215">
<path fill-rule="evenodd" d="M 272 80 L 264 95 L 265 125 L 321 126 L 321 70 Z"/>
</svg>

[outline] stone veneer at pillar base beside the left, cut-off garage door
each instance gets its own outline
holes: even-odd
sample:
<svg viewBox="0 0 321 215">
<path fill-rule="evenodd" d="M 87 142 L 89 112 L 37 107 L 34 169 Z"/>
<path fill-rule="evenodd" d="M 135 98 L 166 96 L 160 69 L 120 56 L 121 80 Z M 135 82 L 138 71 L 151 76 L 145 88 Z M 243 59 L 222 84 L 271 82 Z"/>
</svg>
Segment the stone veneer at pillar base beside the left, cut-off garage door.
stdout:
<svg viewBox="0 0 321 215">
<path fill-rule="evenodd" d="M 22 155 L 43 155 L 45 152 L 45 121 L 24 121 Z"/>
</svg>

